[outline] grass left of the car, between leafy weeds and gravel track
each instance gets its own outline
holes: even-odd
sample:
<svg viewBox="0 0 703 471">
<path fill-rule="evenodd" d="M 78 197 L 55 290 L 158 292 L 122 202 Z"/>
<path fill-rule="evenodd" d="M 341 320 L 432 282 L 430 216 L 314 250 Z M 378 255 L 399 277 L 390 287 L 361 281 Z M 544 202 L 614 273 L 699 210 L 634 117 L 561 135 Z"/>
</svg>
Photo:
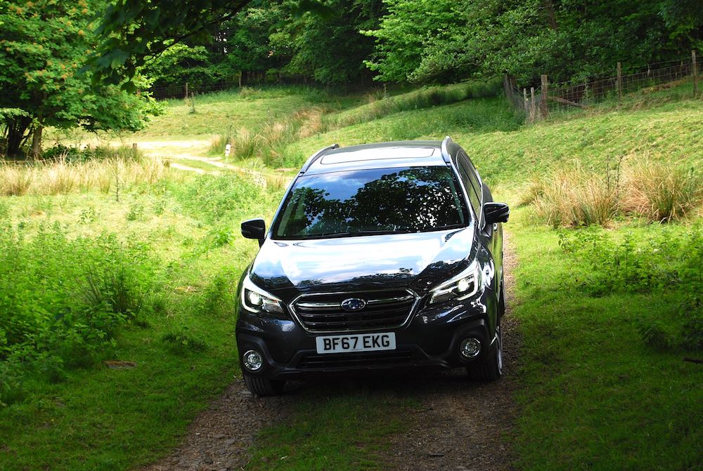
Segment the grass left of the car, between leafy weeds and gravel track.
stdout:
<svg viewBox="0 0 703 471">
<path fill-rule="evenodd" d="M 214 177 L 186 175 L 135 188 L 119 202 L 96 192 L 0 199 L 4 217 L 22 227 L 25 237 L 42 224 L 58 223 L 74 237 L 107 231 L 152 244 L 152 253 L 164 262 L 165 303 L 162 312 L 120 329 L 115 347 L 105 346 L 95 361 L 67 371 L 58 383 L 27 371 L 20 397 L 0 407 L 0 469 L 127 469 L 150 463 L 169 453 L 195 413 L 239 376 L 233 290 L 257 246 L 234 234 L 240 220 L 271 218 L 280 196 L 228 175 L 218 179 L 231 182 L 219 194 L 205 183 L 208 194 L 184 197 L 199 178 Z M 250 198 L 232 196 L 227 189 L 233 187 Z M 135 206 L 138 215 L 129 218 Z M 182 345 L 183 338 L 196 342 Z M 108 369 L 102 363 L 107 359 L 134 361 L 136 368 Z"/>
</svg>

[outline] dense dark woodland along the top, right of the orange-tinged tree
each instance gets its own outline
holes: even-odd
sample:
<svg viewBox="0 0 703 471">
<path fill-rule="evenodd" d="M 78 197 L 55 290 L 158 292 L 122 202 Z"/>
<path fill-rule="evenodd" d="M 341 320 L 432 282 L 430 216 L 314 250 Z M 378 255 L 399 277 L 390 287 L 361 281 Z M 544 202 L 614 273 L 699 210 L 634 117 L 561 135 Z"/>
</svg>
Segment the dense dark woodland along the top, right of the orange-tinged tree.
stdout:
<svg viewBox="0 0 703 471">
<path fill-rule="evenodd" d="M 702 12 L 699 0 L 117 0 L 93 65 L 118 83 L 183 42 L 155 62 L 191 79 L 582 81 L 702 48 Z"/>
</svg>

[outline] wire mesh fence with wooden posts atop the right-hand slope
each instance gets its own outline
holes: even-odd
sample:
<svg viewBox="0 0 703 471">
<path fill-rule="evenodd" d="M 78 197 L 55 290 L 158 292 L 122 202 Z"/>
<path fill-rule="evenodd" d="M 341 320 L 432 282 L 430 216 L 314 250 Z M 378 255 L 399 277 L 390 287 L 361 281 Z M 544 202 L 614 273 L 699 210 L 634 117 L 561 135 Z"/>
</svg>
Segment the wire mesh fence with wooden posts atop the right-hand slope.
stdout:
<svg viewBox="0 0 703 471">
<path fill-rule="evenodd" d="M 607 102 L 622 102 L 638 91 L 657 91 L 662 88 L 682 86 L 697 94 L 703 64 L 695 52 L 690 58 L 669 60 L 647 65 L 640 72 L 622 74 L 617 64 L 617 75 L 606 79 L 586 81 L 583 84 L 553 88 L 548 77 L 542 76 L 538 88 L 518 88 L 515 81 L 505 77 L 503 88 L 508 101 L 524 112 L 528 122 L 543 119 L 552 113 L 587 109 Z M 690 82 L 690 84 L 689 84 Z M 637 97 L 641 98 L 641 95 Z"/>
</svg>

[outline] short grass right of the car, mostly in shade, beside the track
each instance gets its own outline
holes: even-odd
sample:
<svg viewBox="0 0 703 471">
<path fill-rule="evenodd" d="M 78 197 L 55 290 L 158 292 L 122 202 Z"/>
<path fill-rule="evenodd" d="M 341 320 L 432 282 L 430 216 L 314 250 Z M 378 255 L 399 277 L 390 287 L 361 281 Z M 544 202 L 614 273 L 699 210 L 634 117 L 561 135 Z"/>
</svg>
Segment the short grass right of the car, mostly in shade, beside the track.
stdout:
<svg viewBox="0 0 703 471">
<path fill-rule="evenodd" d="M 695 469 L 703 370 L 647 347 L 636 328 L 671 310 L 676 293 L 588 296 L 579 281 L 590 268 L 525 216 L 510 225 L 520 260 L 520 468 Z"/>
</svg>

